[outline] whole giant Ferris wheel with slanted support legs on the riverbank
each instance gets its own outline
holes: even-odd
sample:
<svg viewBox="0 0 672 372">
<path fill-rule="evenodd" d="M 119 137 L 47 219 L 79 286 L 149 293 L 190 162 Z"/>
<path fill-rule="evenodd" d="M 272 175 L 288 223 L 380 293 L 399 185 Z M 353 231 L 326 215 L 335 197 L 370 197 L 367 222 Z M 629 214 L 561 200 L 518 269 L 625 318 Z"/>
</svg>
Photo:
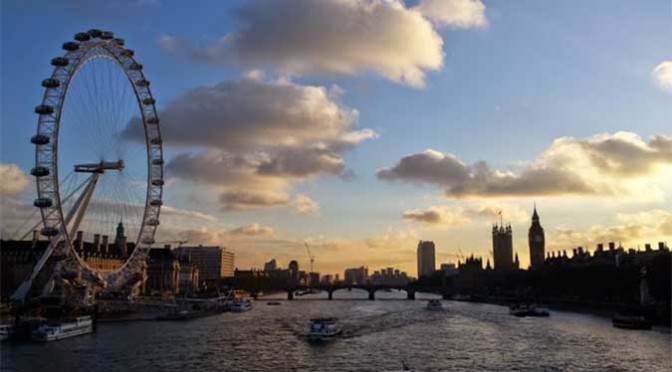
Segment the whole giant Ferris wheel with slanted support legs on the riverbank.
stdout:
<svg viewBox="0 0 672 372">
<path fill-rule="evenodd" d="M 63 44 L 65 54 L 51 60 L 31 138 L 34 206 L 49 246 L 14 300 L 55 278 L 118 290 L 137 281 L 145 265 L 163 204 L 163 148 L 150 82 L 124 44 L 112 32 L 92 29 L 75 34 Z M 116 252 L 125 260 L 116 270 L 87 263 L 75 249 L 75 237 L 93 235 L 100 246 L 102 236 L 105 250 L 91 254 L 112 256 L 107 236 L 115 227 L 117 239 L 120 228 L 128 235 L 128 245 L 124 236 L 116 249 L 132 248 Z"/>
</svg>

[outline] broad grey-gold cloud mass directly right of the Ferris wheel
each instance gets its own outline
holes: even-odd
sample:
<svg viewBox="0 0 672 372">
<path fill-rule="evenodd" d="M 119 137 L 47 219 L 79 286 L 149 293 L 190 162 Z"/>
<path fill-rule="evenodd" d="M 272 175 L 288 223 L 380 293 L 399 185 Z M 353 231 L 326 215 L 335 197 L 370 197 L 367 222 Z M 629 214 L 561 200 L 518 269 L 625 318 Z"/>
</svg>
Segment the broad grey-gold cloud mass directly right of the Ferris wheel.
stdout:
<svg viewBox="0 0 672 372">
<path fill-rule="evenodd" d="M 166 144 L 192 152 L 178 153 L 166 171 L 216 189 L 226 210 L 289 206 L 309 213 L 316 203 L 292 196 L 292 186 L 350 176 L 344 154 L 377 134 L 354 129 L 359 113 L 341 104 L 336 86 L 262 78 L 202 86 L 168 104 L 160 113 Z M 131 122 L 122 135 L 142 141 L 141 129 Z"/>
</svg>

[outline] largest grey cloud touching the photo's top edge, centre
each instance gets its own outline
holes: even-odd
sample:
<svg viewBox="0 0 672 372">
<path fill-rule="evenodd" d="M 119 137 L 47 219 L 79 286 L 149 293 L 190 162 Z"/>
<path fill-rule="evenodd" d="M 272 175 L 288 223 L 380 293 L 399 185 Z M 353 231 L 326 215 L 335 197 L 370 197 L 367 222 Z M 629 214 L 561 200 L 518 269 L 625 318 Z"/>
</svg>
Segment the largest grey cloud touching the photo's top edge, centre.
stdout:
<svg viewBox="0 0 672 372">
<path fill-rule="evenodd" d="M 478 12 L 464 4 L 452 8 L 459 15 L 429 8 L 456 27 L 474 24 Z M 373 72 L 416 88 L 424 86 L 427 71 L 443 65 L 441 36 L 421 12 L 398 0 L 261 0 L 232 15 L 242 26 L 211 45 L 163 36 L 159 46 L 215 66 L 237 63 L 282 75 Z"/>
</svg>

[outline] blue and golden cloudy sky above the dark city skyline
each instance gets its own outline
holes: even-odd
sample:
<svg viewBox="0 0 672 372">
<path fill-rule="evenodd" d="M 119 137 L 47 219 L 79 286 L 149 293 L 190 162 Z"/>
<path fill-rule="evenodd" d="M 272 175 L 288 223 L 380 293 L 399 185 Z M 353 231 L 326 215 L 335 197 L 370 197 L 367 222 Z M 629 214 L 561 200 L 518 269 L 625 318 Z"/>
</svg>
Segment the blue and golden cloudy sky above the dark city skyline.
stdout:
<svg viewBox="0 0 672 372">
<path fill-rule="evenodd" d="M 3 236 L 32 212 L 29 138 L 49 61 L 95 27 L 124 38 L 152 83 L 167 180 L 158 241 L 225 246 L 239 268 L 307 267 L 307 243 L 322 273 L 415 275 L 418 240 L 436 243 L 439 263 L 491 259 L 502 211 L 527 267 L 536 204 L 547 251 L 672 242 L 671 6 L 3 1 Z M 130 149 L 141 173 L 128 107 L 109 133 L 80 124 L 110 152 Z M 102 151 L 64 128 L 63 159 Z M 142 199 L 142 179 L 114 181 L 132 185 L 119 199 Z"/>
</svg>

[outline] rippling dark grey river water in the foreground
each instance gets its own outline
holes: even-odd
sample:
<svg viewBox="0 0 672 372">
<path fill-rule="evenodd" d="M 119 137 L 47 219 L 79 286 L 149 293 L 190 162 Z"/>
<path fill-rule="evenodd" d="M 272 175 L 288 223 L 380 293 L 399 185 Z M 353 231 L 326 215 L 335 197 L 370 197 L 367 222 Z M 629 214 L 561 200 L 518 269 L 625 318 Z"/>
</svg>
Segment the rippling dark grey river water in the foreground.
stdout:
<svg viewBox="0 0 672 372">
<path fill-rule="evenodd" d="M 96 334 L 45 345 L 3 344 L 2 371 L 400 371 L 402 361 L 416 371 L 672 370 L 669 329 L 625 331 L 558 311 L 516 318 L 502 306 L 453 301 L 436 313 L 424 309 L 431 295 L 408 301 L 404 292 L 378 292 L 376 301 L 355 290 L 333 301 L 310 296 L 187 322 L 101 324 Z M 315 316 L 339 317 L 343 337 L 308 344 Z"/>
</svg>

